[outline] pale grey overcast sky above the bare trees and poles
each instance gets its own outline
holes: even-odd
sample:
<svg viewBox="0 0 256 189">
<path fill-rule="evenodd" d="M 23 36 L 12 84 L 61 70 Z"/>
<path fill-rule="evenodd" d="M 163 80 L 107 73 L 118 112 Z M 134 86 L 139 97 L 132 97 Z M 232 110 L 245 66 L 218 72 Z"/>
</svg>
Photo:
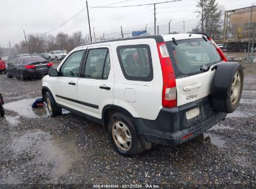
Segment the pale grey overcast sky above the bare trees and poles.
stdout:
<svg viewBox="0 0 256 189">
<path fill-rule="evenodd" d="M 125 6 L 163 1 L 166 0 L 88 0 L 88 6 L 105 6 L 107 4 Z M 229 10 L 251 6 L 254 0 L 217 0 L 217 2 L 225 10 Z M 185 32 L 195 27 L 198 22 L 195 12 L 198 10 L 196 4 L 196 0 L 158 4 L 156 6 L 156 18 L 160 34 L 168 31 L 170 20 L 172 20 L 172 31 L 183 32 L 183 21 Z M 55 35 L 60 31 L 72 34 L 81 30 L 85 36 L 88 34 L 86 10 L 61 27 L 49 32 L 81 11 L 85 6 L 85 0 L 0 0 L 0 45 L 1 47 L 8 47 L 9 41 L 14 45 L 24 40 L 23 30 L 27 35 L 44 34 L 45 32 Z M 101 37 L 103 32 L 105 32 L 105 38 L 118 37 L 121 25 L 125 33 L 129 33 L 131 30 L 145 29 L 146 24 L 148 24 L 148 31 L 151 34 L 153 32 L 153 5 L 108 9 L 90 8 L 89 13 L 92 32 L 93 27 L 95 27 L 96 38 Z"/>
</svg>

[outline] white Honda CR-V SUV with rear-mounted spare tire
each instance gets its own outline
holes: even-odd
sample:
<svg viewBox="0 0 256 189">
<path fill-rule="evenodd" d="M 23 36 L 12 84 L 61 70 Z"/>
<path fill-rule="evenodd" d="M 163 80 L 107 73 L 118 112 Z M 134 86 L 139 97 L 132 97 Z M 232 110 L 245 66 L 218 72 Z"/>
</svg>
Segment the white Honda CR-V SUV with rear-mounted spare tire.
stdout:
<svg viewBox="0 0 256 189">
<path fill-rule="evenodd" d="M 148 35 L 81 45 L 42 80 L 50 116 L 62 108 L 108 127 L 132 156 L 178 145 L 237 108 L 243 68 L 206 34 Z"/>
</svg>

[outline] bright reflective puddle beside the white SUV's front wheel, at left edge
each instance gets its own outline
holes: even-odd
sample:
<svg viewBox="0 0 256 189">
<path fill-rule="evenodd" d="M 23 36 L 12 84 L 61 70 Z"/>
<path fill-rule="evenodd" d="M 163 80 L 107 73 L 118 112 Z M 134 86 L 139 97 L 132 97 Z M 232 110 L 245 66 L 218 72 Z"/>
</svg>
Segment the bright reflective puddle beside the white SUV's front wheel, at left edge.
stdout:
<svg viewBox="0 0 256 189">
<path fill-rule="evenodd" d="M 19 101 L 13 101 L 11 103 L 4 104 L 4 108 L 15 111 L 20 116 L 25 118 L 37 118 L 39 116 L 47 116 L 47 111 L 45 109 L 32 109 L 31 105 L 36 100 L 36 98 L 21 99 Z"/>
</svg>

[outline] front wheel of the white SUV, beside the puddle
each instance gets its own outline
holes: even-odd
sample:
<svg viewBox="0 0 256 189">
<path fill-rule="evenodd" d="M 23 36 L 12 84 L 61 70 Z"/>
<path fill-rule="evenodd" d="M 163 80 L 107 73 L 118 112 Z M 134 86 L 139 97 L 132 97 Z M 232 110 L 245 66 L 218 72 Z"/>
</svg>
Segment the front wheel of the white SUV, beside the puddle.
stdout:
<svg viewBox="0 0 256 189">
<path fill-rule="evenodd" d="M 62 114 L 62 108 L 60 108 L 54 101 L 52 94 L 47 91 L 45 93 L 45 103 L 47 104 L 47 109 L 49 111 L 50 117 L 56 117 Z"/>
</svg>

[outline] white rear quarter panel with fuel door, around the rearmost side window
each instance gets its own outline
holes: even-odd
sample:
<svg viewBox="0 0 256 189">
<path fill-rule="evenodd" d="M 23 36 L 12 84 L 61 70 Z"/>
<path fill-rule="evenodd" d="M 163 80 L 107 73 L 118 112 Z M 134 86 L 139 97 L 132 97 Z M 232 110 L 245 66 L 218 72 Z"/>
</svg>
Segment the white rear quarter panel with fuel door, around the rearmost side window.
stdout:
<svg viewBox="0 0 256 189">
<path fill-rule="evenodd" d="M 152 81 L 132 81 L 126 80 L 118 60 L 116 48 L 123 45 L 141 45 L 147 44 L 151 50 L 151 58 L 153 63 L 153 80 Z M 113 90 L 113 104 L 121 106 L 129 111 L 135 118 L 143 118 L 154 120 L 157 118 L 162 108 L 162 88 L 163 76 L 161 65 L 159 62 L 158 50 L 154 39 L 136 39 L 123 40 L 113 43 L 112 60 L 115 73 L 115 86 Z M 135 93 L 126 93 L 126 91 L 134 91 Z M 125 94 L 126 93 L 126 94 Z M 128 101 L 130 96 L 135 95 L 135 101 Z"/>
</svg>

